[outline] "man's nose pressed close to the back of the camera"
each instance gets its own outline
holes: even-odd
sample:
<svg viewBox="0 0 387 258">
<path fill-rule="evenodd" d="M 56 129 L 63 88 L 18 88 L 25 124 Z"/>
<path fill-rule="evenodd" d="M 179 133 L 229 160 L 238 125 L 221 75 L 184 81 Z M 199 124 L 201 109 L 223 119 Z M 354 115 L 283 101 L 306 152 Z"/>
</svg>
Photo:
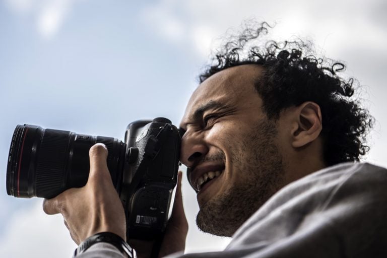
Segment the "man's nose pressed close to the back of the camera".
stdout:
<svg viewBox="0 0 387 258">
<path fill-rule="evenodd" d="M 199 133 L 186 132 L 181 138 L 180 161 L 187 167 L 198 163 L 208 153 L 208 146 Z"/>
</svg>

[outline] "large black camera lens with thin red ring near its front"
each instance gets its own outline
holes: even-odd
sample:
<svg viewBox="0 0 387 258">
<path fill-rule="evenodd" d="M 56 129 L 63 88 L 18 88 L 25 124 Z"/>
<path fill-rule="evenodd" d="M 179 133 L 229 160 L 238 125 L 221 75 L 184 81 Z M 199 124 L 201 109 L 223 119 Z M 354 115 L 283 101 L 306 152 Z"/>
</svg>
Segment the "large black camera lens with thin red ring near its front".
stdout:
<svg viewBox="0 0 387 258">
<path fill-rule="evenodd" d="M 17 125 L 8 156 L 8 195 L 49 199 L 84 186 L 90 170 L 89 149 L 95 143 L 105 144 L 109 151 L 107 166 L 118 190 L 125 155 L 125 144 L 118 139 Z"/>
</svg>

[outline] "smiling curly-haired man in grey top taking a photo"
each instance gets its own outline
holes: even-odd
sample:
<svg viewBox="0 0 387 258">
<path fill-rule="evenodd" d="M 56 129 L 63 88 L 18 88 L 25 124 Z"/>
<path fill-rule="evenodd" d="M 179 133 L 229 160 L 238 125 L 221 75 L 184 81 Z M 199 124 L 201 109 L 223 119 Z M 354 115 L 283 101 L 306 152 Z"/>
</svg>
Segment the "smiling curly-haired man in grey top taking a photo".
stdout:
<svg viewBox="0 0 387 258">
<path fill-rule="evenodd" d="M 372 125 L 351 98 L 353 79 L 342 79 L 343 64 L 314 57 L 301 41 L 269 41 L 246 52 L 246 42 L 268 27 L 247 29 L 225 45 L 182 118 L 181 162 L 198 192 L 197 224 L 233 236 L 224 251 L 183 256 L 386 256 L 387 171 L 343 163 L 366 153 Z M 104 146 L 93 146 L 87 185 L 43 205 L 46 213 L 63 215 L 78 244 L 89 239 L 79 257 L 125 255 L 115 240 L 89 247 L 99 232 L 126 240 L 106 157 Z M 160 256 L 184 249 L 180 182 L 181 173 Z M 151 255 L 153 243 L 128 242 L 139 257 Z"/>
</svg>

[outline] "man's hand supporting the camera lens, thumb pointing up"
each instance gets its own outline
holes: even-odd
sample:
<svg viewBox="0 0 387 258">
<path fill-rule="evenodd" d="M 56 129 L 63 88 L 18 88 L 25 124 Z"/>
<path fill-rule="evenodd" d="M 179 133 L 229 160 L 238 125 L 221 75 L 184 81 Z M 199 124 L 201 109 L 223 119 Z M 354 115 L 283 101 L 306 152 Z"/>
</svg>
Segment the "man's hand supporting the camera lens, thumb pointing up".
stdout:
<svg viewBox="0 0 387 258">
<path fill-rule="evenodd" d="M 112 232 L 126 240 L 125 214 L 107 168 L 107 154 L 103 144 L 92 146 L 86 185 L 43 202 L 46 214 L 62 214 L 77 244 L 99 232 Z"/>
</svg>

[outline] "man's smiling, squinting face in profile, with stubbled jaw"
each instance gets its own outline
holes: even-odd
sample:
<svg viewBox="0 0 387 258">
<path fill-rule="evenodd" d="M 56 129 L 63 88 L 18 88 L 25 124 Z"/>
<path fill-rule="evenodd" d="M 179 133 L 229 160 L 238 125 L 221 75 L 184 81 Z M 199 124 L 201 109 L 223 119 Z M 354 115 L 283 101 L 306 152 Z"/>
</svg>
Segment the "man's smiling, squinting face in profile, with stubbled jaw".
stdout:
<svg viewBox="0 0 387 258">
<path fill-rule="evenodd" d="M 223 70 L 192 94 L 180 127 L 181 161 L 198 191 L 199 228 L 231 236 L 284 185 L 276 122 L 254 89 L 262 68 Z"/>
</svg>

